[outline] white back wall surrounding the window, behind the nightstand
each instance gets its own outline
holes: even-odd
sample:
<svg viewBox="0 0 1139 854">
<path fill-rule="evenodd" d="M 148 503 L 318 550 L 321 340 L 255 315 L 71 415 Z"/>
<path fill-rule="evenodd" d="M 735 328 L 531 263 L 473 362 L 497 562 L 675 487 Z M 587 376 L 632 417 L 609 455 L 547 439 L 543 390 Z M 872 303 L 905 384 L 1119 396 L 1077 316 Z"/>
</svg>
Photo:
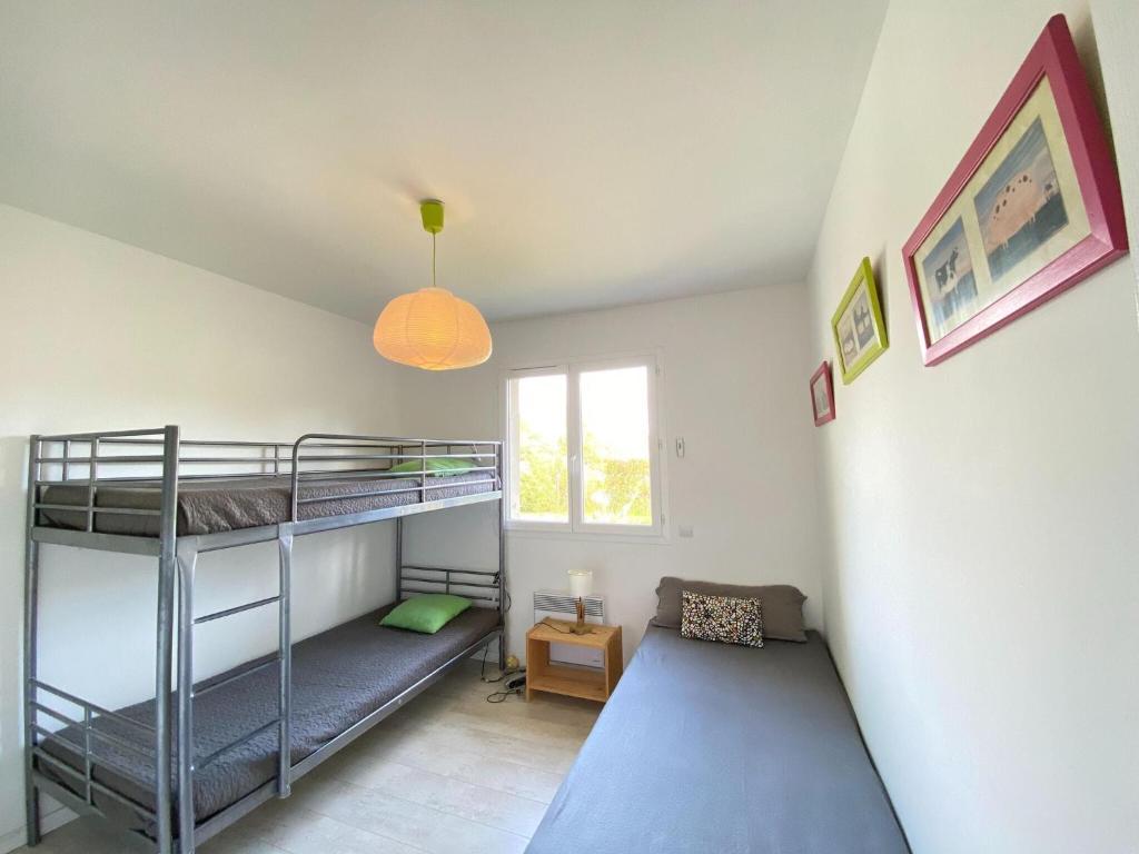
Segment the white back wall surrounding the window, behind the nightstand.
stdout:
<svg viewBox="0 0 1139 854">
<path fill-rule="evenodd" d="M 567 588 L 566 570 L 593 570 L 609 602 L 609 621 L 624 629 L 625 656 L 656 608 L 662 575 L 730 582 L 787 582 L 810 599 L 809 621 L 821 618 L 813 432 L 808 379 L 820 356 L 803 330 L 802 285 L 761 287 L 583 314 L 494 325 L 494 355 L 454 373 L 401 372 L 401 399 L 415 401 L 415 433 L 500 435 L 503 369 L 550 360 L 659 348 L 659 396 L 667 476 L 669 542 L 628 543 L 572 535 L 507 537 L 514 613 L 509 647 L 524 656 L 532 592 Z M 675 437 L 687 454 L 671 453 Z M 461 560 L 454 543 L 485 542 L 493 508 L 451 514 L 465 535 L 416 537 L 421 560 Z M 441 523 L 409 520 L 409 529 Z M 695 536 L 677 536 L 691 525 Z M 485 547 L 484 547 L 485 548 Z M 450 553 L 449 553 L 450 552 Z M 493 556 L 492 556 L 493 557 Z"/>
</svg>

